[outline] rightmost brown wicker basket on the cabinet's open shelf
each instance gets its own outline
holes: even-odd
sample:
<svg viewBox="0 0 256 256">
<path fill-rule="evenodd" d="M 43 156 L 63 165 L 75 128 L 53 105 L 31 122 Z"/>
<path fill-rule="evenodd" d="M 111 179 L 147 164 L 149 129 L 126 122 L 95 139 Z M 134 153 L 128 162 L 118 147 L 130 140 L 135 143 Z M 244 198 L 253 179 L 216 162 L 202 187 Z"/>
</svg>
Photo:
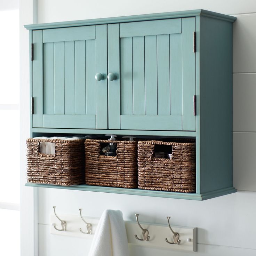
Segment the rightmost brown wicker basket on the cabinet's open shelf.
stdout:
<svg viewBox="0 0 256 256">
<path fill-rule="evenodd" d="M 155 158 L 155 145 L 172 146 L 173 158 Z M 195 192 L 195 143 L 139 141 L 138 187 L 149 190 Z"/>
</svg>

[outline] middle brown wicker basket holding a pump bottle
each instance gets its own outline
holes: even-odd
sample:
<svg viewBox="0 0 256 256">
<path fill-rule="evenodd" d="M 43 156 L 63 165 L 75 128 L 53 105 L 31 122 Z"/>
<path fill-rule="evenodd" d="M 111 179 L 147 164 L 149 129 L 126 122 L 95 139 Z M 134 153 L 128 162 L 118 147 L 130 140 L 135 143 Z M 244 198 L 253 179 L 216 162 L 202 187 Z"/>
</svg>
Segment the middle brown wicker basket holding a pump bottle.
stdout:
<svg viewBox="0 0 256 256">
<path fill-rule="evenodd" d="M 116 143 L 117 156 L 101 155 L 101 143 Z M 88 185 L 138 187 L 137 142 L 86 139 L 85 181 Z"/>
</svg>

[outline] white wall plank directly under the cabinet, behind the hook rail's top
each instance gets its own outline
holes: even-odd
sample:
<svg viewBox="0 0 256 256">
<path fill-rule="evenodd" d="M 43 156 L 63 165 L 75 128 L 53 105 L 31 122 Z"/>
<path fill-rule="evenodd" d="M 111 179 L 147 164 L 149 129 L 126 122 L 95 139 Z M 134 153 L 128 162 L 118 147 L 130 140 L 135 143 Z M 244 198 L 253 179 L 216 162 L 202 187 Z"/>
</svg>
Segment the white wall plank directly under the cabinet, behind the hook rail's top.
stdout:
<svg viewBox="0 0 256 256">
<path fill-rule="evenodd" d="M 54 205 L 59 217 L 61 213 L 79 215 L 79 208 L 83 208 L 83 215 L 88 217 L 100 217 L 105 209 L 120 209 L 126 221 L 136 221 L 134 214 L 139 213 L 141 222 L 166 224 L 166 216 L 172 216 L 173 225 L 198 227 L 199 243 L 256 249 L 256 205 L 251 203 L 255 201 L 255 192 L 237 192 L 193 201 L 40 189 L 39 223 L 51 224 Z M 241 233 L 247 234 L 246 239 L 241 239 Z"/>
</svg>

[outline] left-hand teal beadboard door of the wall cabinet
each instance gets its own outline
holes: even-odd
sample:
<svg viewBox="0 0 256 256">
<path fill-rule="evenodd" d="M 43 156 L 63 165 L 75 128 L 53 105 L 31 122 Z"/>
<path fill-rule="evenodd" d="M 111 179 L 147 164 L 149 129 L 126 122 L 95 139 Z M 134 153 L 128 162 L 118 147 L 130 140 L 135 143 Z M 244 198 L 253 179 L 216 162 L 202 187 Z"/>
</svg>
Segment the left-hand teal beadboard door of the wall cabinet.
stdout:
<svg viewBox="0 0 256 256">
<path fill-rule="evenodd" d="M 32 42 L 33 127 L 107 129 L 107 26 L 34 30 Z"/>
</svg>

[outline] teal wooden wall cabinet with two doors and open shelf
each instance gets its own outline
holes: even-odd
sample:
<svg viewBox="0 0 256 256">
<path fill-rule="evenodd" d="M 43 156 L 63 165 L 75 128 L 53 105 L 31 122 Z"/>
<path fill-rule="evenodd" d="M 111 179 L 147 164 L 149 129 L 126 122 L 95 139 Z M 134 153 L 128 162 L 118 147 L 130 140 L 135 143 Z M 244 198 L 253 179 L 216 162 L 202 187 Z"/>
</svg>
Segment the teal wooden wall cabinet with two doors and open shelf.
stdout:
<svg viewBox="0 0 256 256">
<path fill-rule="evenodd" d="M 203 200 L 232 185 L 232 23 L 206 10 L 26 25 L 31 136 L 196 140 L 196 193 L 61 187 Z"/>
</svg>

